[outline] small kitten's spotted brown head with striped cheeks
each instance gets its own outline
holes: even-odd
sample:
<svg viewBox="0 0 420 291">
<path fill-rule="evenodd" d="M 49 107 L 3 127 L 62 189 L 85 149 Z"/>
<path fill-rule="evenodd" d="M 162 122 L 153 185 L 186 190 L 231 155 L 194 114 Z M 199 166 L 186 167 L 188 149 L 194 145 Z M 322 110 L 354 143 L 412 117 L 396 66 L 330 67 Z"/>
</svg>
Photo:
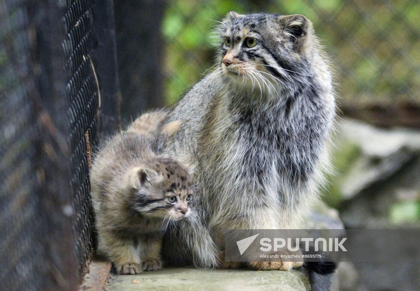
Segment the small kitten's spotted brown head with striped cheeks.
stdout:
<svg viewBox="0 0 420 291">
<path fill-rule="evenodd" d="M 144 216 L 179 220 L 192 200 L 191 170 L 173 159 L 156 158 L 127 174 L 131 207 Z"/>
</svg>

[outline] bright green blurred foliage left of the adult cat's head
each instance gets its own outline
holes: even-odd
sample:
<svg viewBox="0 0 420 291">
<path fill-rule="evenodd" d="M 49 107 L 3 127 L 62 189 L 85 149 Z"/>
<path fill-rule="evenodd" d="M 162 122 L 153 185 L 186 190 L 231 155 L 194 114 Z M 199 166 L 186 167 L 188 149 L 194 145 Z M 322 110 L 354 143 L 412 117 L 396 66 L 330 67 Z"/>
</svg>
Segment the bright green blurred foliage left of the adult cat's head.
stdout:
<svg viewBox="0 0 420 291">
<path fill-rule="evenodd" d="M 163 21 L 166 39 L 167 103 L 176 102 L 210 68 L 215 38 L 210 30 L 229 11 L 244 12 L 236 1 L 171 1 Z"/>
</svg>

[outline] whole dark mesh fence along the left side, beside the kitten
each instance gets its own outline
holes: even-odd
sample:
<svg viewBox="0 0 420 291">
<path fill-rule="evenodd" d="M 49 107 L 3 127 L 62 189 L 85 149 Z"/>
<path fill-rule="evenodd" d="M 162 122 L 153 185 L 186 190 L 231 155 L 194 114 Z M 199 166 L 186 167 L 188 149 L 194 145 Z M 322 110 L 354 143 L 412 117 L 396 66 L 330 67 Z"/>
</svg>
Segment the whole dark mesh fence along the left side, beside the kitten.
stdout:
<svg viewBox="0 0 420 291">
<path fill-rule="evenodd" d="M 93 5 L 0 1 L 0 290 L 77 290 L 92 257 L 101 80 L 115 80 L 103 86 L 113 121 L 104 128 L 119 120 L 113 5 Z M 95 15 L 110 34 L 96 31 Z"/>
</svg>

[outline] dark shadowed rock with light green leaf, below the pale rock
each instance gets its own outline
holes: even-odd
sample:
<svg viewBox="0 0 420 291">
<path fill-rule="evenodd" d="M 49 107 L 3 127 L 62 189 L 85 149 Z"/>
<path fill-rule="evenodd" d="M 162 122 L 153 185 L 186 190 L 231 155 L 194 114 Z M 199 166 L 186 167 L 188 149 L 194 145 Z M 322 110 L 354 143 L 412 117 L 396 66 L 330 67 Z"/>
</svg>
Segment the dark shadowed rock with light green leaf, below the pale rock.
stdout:
<svg viewBox="0 0 420 291">
<path fill-rule="evenodd" d="M 341 206 L 346 228 L 420 227 L 420 157 Z"/>
</svg>

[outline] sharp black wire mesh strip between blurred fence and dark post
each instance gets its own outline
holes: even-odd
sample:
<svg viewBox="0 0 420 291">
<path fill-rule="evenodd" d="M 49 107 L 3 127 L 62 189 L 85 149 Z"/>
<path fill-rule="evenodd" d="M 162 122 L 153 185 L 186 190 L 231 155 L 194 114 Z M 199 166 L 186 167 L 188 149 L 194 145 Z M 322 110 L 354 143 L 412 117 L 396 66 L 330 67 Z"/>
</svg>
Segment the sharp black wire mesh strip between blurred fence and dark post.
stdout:
<svg viewBox="0 0 420 291">
<path fill-rule="evenodd" d="M 68 118 L 69 144 L 71 145 L 71 189 L 74 195 L 75 253 L 79 271 L 86 270 L 92 253 L 92 207 L 89 203 L 89 163 L 91 149 L 97 142 L 98 92 L 97 78 L 92 64 L 94 45 L 92 1 L 67 1 L 63 16 L 66 38 L 63 50 L 68 83 L 66 97 L 70 102 Z"/>
</svg>

